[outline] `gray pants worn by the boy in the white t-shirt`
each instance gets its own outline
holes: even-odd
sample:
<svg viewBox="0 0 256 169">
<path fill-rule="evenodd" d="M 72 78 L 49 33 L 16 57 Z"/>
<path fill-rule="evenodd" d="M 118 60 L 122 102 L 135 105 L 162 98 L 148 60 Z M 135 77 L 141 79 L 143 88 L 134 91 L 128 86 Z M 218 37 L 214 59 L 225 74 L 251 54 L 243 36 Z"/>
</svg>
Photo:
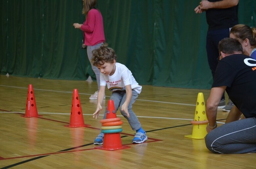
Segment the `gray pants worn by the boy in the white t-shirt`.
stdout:
<svg viewBox="0 0 256 169">
<path fill-rule="evenodd" d="M 130 115 L 129 118 L 127 117 L 127 115 L 124 111 L 121 111 L 121 107 L 126 100 L 126 91 L 125 90 L 124 91 L 115 91 L 115 92 L 112 92 L 112 94 L 110 96 L 110 99 L 112 99 L 114 101 L 115 110 L 117 111 L 118 108 L 120 108 L 121 114 L 128 120 L 132 130 L 138 130 L 139 128 L 141 128 L 139 119 L 137 118 L 136 114 L 131 110 L 132 105 L 136 101 L 138 96 L 139 96 L 139 93 L 137 93 L 135 90 L 132 90 L 131 100 L 128 105 L 128 112 Z M 107 109 L 108 109 L 108 107 L 106 107 L 106 111 L 105 111 L 103 119 L 106 119 L 106 117 L 107 117 Z"/>
</svg>

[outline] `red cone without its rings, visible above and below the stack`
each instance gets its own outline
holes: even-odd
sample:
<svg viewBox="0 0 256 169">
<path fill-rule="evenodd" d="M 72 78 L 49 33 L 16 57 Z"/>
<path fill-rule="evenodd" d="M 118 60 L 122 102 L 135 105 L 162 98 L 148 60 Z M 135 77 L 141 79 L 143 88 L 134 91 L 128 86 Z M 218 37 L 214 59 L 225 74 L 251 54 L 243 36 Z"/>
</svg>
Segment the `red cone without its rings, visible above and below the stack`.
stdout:
<svg viewBox="0 0 256 169">
<path fill-rule="evenodd" d="M 106 119 L 116 118 L 115 105 L 113 100 L 108 100 L 108 109 Z M 105 133 L 103 139 L 103 146 L 95 147 L 102 150 L 119 150 L 130 148 L 130 146 L 122 145 L 120 132 L 117 133 Z"/>
</svg>

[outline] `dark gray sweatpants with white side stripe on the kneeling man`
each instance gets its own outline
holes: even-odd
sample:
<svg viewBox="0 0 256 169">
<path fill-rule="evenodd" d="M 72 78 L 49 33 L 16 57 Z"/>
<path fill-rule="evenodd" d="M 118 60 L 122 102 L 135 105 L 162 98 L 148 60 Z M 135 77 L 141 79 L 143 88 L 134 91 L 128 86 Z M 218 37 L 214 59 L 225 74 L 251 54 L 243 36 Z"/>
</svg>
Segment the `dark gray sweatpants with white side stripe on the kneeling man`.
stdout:
<svg viewBox="0 0 256 169">
<path fill-rule="evenodd" d="M 255 153 L 256 118 L 237 120 L 217 127 L 206 135 L 205 143 L 214 153 Z"/>
</svg>

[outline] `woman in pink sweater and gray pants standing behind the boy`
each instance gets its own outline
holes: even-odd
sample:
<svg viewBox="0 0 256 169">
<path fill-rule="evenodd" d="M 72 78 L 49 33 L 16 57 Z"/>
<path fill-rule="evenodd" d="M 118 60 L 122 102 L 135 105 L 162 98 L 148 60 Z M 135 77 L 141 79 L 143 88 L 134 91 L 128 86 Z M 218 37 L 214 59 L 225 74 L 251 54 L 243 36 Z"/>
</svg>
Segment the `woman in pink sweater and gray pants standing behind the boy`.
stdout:
<svg viewBox="0 0 256 169">
<path fill-rule="evenodd" d="M 105 42 L 103 18 L 99 9 L 95 8 L 97 0 L 83 0 L 84 8 L 82 13 L 86 16 L 83 24 L 74 23 L 73 26 L 84 32 L 84 44 L 87 46 L 88 59 L 92 58 L 92 50 L 98 49 Z M 92 94 L 89 99 L 97 100 L 100 89 L 100 72 L 96 66 L 91 63 L 93 72 L 96 75 L 98 91 Z M 105 97 L 104 97 L 105 99 Z"/>
</svg>

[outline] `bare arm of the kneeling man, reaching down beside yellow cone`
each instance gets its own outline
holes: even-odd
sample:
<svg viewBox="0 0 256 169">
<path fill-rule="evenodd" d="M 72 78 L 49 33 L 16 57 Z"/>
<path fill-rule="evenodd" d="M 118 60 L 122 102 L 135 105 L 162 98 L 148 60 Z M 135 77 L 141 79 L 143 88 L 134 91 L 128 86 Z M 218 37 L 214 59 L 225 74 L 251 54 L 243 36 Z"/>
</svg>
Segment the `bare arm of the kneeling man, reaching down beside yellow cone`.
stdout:
<svg viewBox="0 0 256 169">
<path fill-rule="evenodd" d="M 207 132 L 210 132 L 211 130 L 213 130 L 214 128 L 211 128 L 211 127 L 214 127 L 216 125 L 218 105 L 220 103 L 223 93 L 225 92 L 225 89 L 226 89 L 226 86 L 211 88 L 211 92 L 207 99 L 207 104 L 206 104 L 206 115 L 209 121 L 209 125 L 207 125 L 206 127 Z"/>
</svg>

